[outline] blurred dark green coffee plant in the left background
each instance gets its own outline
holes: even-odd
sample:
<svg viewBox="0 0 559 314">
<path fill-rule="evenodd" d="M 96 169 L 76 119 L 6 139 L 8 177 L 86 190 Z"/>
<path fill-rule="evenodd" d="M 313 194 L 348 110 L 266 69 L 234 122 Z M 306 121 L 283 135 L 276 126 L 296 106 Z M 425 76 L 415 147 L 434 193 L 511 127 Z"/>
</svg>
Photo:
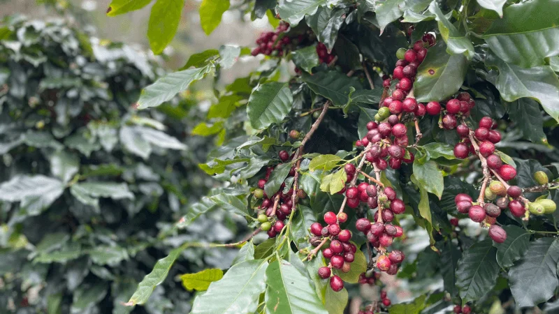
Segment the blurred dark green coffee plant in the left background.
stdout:
<svg viewBox="0 0 559 314">
<path fill-rule="evenodd" d="M 246 232 L 223 212 L 173 229 L 215 185 L 196 163 L 212 144 L 185 128 L 205 117 L 193 96 L 133 108 L 164 74 L 155 59 L 64 21 L 7 17 L 0 33 L 0 313 L 130 313 L 122 304 L 182 241 Z M 190 250 L 134 313 L 187 312 L 173 277 L 235 254 Z"/>
</svg>

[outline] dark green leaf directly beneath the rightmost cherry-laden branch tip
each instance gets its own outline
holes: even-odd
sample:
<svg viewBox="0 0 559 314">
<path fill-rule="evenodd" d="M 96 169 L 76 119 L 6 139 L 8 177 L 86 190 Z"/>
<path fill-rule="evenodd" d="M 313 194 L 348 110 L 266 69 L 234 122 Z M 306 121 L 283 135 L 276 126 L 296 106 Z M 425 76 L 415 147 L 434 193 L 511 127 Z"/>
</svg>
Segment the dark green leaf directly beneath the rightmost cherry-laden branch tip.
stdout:
<svg viewBox="0 0 559 314">
<path fill-rule="evenodd" d="M 503 229 L 507 232 L 507 239 L 503 243 L 493 242 L 493 246 L 497 248 L 497 262 L 504 268 L 511 267 L 528 251 L 530 232 L 516 225 L 505 225 Z"/>
</svg>

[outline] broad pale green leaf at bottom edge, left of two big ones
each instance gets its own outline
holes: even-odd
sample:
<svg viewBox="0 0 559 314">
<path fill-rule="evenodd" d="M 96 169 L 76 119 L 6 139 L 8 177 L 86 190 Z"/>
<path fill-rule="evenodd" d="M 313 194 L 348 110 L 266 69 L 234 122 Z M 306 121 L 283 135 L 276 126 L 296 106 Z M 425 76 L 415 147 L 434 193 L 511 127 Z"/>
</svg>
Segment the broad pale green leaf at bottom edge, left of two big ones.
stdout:
<svg viewBox="0 0 559 314">
<path fill-rule="evenodd" d="M 266 260 L 247 260 L 233 265 L 220 281 L 194 299 L 191 314 L 254 313 L 259 295 L 266 289 Z"/>
</svg>

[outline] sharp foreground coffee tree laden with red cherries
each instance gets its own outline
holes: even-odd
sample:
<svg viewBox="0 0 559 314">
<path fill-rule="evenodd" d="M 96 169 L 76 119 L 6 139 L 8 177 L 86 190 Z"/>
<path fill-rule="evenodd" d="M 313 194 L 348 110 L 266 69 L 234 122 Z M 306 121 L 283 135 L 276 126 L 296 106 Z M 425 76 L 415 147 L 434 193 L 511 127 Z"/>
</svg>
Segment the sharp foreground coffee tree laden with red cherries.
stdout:
<svg viewBox="0 0 559 314">
<path fill-rule="evenodd" d="M 115 0 L 108 15 L 148 3 Z M 154 3 L 155 53 L 183 3 Z M 203 30 L 229 8 L 202 1 Z M 199 167 L 231 193 L 203 198 L 176 227 L 220 208 L 254 232 L 205 244 L 240 251 L 224 275 L 184 278 L 201 291 L 191 313 L 342 313 L 348 290 L 390 276 L 421 295 L 392 304 L 382 290 L 359 313 L 558 307 L 559 1 L 256 0 L 235 10 L 266 15 L 275 30 L 249 49 L 194 54 L 138 100 L 157 107 L 261 56 L 249 76 L 216 84 L 194 129 L 224 141 Z M 416 230 L 429 245 L 408 254 Z M 145 304 L 180 251 L 199 245 L 159 260 L 128 305 Z M 443 289 L 426 293 L 433 277 Z"/>
</svg>

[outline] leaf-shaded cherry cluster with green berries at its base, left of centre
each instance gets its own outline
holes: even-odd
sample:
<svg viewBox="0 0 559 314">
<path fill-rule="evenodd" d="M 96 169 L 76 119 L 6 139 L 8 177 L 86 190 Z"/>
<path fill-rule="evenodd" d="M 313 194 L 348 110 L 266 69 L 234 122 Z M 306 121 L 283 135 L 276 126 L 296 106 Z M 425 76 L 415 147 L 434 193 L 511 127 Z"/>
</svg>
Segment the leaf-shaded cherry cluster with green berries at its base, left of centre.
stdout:
<svg viewBox="0 0 559 314">
<path fill-rule="evenodd" d="M 279 160 L 282 162 L 286 162 L 290 157 L 287 151 L 279 151 L 278 156 Z M 282 184 L 277 193 L 274 195 L 266 195 L 263 188 L 266 185 L 266 182 L 268 182 L 270 174 L 272 174 L 273 170 L 273 167 L 268 167 L 268 169 L 266 169 L 266 176 L 264 179 L 260 179 L 258 181 L 258 188 L 256 188 L 253 192 L 256 199 L 262 200 L 260 204 L 262 211 L 261 214 L 258 215 L 257 220 L 261 223 L 261 230 L 268 232 L 268 237 L 270 238 L 275 237 L 284 228 L 284 220 L 289 216 L 289 214 L 291 214 L 291 208 L 293 207 L 293 193 L 297 193 L 296 197 L 298 199 L 307 197 L 307 194 L 303 189 L 298 189 L 294 192 L 293 188 L 291 188 L 287 193 L 283 193 L 285 184 Z M 293 177 L 294 175 L 295 167 L 291 167 L 288 177 Z M 279 197 L 279 201 L 277 206 L 274 207 L 276 197 Z"/>
</svg>

